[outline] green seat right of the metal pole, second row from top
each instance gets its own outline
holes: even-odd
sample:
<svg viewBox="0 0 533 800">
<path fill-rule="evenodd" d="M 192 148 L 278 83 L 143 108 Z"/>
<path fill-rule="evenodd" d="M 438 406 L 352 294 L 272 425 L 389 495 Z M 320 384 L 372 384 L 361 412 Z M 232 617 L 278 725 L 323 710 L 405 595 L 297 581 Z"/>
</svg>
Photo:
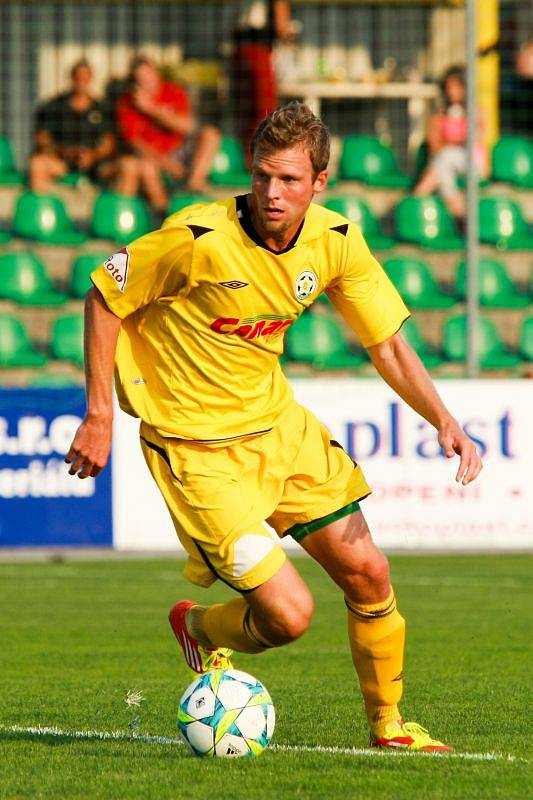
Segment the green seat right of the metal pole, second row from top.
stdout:
<svg viewBox="0 0 533 800">
<path fill-rule="evenodd" d="M 531 226 L 518 203 L 504 197 L 479 201 L 479 238 L 500 250 L 533 250 Z"/>
</svg>

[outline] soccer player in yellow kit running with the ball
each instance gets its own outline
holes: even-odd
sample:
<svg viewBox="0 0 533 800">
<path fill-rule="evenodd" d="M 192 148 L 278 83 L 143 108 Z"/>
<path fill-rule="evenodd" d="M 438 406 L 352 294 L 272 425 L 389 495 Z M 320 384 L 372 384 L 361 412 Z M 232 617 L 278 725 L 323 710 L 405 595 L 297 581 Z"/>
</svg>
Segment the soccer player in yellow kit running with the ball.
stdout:
<svg viewBox="0 0 533 800">
<path fill-rule="evenodd" d="M 238 593 L 171 609 L 191 669 L 229 667 L 232 650 L 260 653 L 307 629 L 311 593 L 267 520 L 344 594 L 371 744 L 447 751 L 402 719 L 405 623 L 359 505 L 371 490 L 295 402 L 278 363 L 284 332 L 326 291 L 379 374 L 437 429 L 446 456 L 460 456 L 456 480 L 474 480 L 481 460 L 404 342 L 409 312 L 359 229 L 312 203 L 328 157 L 324 124 L 303 104 L 284 106 L 252 141 L 251 194 L 190 206 L 95 270 L 87 414 L 66 461 L 80 478 L 103 469 L 115 363 L 120 405 L 141 419 L 146 462 L 188 554 L 186 577 Z"/>
</svg>

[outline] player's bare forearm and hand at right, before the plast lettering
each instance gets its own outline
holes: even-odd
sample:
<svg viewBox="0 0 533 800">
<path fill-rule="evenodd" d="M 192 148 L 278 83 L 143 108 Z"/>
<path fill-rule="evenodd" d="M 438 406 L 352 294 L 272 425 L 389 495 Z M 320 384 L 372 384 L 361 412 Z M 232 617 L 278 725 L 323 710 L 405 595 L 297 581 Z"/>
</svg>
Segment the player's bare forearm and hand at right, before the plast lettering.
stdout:
<svg viewBox="0 0 533 800">
<path fill-rule="evenodd" d="M 452 417 L 424 365 L 402 335 L 396 333 L 382 344 L 369 347 L 368 352 L 375 368 L 396 394 L 437 429 L 446 456 L 460 456 L 455 480 L 466 486 L 477 478 L 483 464 L 476 446 Z"/>
</svg>

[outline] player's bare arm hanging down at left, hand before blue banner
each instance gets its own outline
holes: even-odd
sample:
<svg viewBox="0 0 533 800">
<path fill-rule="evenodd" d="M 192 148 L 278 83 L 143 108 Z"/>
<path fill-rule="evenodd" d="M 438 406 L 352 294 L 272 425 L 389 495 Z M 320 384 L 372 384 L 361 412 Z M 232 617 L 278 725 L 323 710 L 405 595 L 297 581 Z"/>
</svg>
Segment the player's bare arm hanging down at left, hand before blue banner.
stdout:
<svg viewBox="0 0 533 800">
<path fill-rule="evenodd" d="M 113 426 L 113 368 L 122 320 L 107 308 L 96 288 L 85 300 L 85 381 L 87 412 L 65 461 L 69 475 L 95 478 L 111 450 Z"/>
</svg>

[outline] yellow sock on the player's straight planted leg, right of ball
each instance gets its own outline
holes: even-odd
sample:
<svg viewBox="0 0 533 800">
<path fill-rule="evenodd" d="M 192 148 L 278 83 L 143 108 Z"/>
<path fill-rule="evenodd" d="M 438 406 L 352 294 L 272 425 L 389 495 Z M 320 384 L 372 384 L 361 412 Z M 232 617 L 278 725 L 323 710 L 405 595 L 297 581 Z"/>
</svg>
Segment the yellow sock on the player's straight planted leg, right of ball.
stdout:
<svg viewBox="0 0 533 800">
<path fill-rule="evenodd" d="M 394 592 L 373 605 L 348 607 L 348 637 L 359 676 L 368 723 L 375 735 L 400 718 L 398 703 L 403 690 L 405 620 L 396 608 Z"/>
</svg>

